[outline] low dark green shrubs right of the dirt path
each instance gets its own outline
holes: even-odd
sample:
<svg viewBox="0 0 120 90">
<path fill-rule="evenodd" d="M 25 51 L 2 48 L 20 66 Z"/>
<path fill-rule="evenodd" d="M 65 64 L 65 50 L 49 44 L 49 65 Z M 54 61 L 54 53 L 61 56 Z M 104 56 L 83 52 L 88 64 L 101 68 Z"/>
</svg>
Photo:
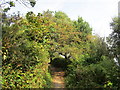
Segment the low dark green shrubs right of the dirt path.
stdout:
<svg viewBox="0 0 120 90">
<path fill-rule="evenodd" d="M 119 88 L 119 68 L 108 57 L 103 56 L 98 64 L 74 66 L 66 78 L 67 87 L 72 88 Z M 73 68 L 69 67 L 69 68 Z"/>
</svg>

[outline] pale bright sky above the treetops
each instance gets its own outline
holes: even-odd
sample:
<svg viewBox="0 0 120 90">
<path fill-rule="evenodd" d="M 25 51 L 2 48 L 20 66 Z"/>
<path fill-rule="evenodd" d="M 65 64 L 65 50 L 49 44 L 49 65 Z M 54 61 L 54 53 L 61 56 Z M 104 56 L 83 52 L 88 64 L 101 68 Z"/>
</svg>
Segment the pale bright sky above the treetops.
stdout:
<svg viewBox="0 0 120 90">
<path fill-rule="evenodd" d="M 20 11 L 25 15 L 28 11 L 36 14 L 48 9 L 63 11 L 72 20 L 82 17 L 93 28 L 94 34 L 107 37 L 112 32 L 112 18 L 118 16 L 118 2 L 119 0 L 37 0 L 34 8 L 27 8 L 16 2 L 16 6 L 8 13 Z"/>
</svg>

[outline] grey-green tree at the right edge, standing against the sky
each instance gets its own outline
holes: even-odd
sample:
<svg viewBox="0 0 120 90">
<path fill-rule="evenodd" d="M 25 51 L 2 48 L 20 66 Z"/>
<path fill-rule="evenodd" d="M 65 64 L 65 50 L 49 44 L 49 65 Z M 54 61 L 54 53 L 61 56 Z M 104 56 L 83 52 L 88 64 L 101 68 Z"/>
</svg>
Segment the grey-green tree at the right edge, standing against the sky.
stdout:
<svg viewBox="0 0 120 90">
<path fill-rule="evenodd" d="M 112 34 L 108 37 L 108 42 L 111 45 L 110 51 L 113 54 L 120 65 L 120 18 L 115 17 L 110 23 L 111 28 L 113 29 Z"/>
</svg>

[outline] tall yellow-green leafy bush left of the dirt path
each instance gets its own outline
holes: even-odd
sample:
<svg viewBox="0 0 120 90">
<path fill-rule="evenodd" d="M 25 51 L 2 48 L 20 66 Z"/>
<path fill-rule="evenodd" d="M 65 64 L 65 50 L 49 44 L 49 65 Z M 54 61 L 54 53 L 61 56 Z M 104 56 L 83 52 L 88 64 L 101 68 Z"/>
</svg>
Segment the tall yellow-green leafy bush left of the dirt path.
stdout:
<svg viewBox="0 0 120 90">
<path fill-rule="evenodd" d="M 49 53 L 43 43 L 45 31 L 36 27 L 34 20 L 36 19 L 29 21 L 21 18 L 13 21 L 11 26 L 2 27 L 3 88 L 51 86 L 51 76 L 47 68 L 50 62 Z"/>
</svg>

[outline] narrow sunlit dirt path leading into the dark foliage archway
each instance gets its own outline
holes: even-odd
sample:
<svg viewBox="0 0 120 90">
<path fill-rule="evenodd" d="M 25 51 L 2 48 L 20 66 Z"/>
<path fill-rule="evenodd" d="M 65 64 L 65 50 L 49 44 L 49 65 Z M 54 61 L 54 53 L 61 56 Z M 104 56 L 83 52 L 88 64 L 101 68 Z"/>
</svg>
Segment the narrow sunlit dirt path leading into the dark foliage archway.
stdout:
<svg viewBox="0 0 120 90">
<path fill-rule="evenodd" d="M 63 71 L 61 68 L 51 67 L 51 74 L 53 88 L 65 88 L 65 71 Z"/>
</svg>

